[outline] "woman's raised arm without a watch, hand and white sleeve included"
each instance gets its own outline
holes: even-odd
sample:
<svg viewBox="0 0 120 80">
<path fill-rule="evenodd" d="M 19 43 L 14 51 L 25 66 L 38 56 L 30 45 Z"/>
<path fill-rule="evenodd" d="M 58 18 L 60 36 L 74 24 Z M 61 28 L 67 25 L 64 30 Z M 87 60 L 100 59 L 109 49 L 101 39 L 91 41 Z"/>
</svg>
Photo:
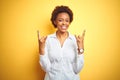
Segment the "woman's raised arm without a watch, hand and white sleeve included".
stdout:
<svg viewBox="0 0 120 80">
<path fill-rule="evenodd" d="M 40 37 L 39 31 L 38 33 L 38 42 L 39 42 L 39 54 L 40 54 L 40 65 L 45 72 L 49 72 L 51 70 L 51 63 L 48 57 L 48 44 L 47 37 Z"/>
</svg>

